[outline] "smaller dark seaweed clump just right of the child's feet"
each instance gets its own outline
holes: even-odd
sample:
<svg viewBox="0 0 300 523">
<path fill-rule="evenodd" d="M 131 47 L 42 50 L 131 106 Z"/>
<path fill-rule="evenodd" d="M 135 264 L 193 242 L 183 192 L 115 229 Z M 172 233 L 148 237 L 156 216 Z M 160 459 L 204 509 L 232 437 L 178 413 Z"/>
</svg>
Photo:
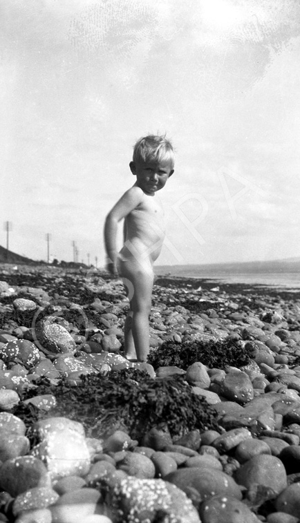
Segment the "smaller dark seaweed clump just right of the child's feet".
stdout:
<svg viewBox="0 0 300 523">
<path fill-rule="evenodd" d="M 225 369 L 228 365 L 242 367 L 251 359 L 251 350 L 241 347 L 234 340 L 194 341 L 176 343 L 165 341 L 160 348 L 151 350 L 148 362 L 155 369 L 176 365 L 187 370 L 189 365 L 200 361 L 209 368 Z"/>
</svg>

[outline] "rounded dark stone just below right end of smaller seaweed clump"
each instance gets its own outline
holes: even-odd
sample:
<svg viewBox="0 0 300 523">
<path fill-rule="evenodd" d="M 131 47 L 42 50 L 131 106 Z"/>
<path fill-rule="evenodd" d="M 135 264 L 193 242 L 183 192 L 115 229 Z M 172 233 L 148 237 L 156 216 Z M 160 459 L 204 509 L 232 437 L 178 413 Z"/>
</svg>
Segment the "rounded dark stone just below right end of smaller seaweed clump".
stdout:
<svg viewBox="0 0 300 523">
<path fill-rule="evenodd" d="M 241 370 L 232 370 L 221 381 L 221 394 L 229 401 L 247 403 L 254 397 L 254 390 L 250 377 Z"/>
</svg>

